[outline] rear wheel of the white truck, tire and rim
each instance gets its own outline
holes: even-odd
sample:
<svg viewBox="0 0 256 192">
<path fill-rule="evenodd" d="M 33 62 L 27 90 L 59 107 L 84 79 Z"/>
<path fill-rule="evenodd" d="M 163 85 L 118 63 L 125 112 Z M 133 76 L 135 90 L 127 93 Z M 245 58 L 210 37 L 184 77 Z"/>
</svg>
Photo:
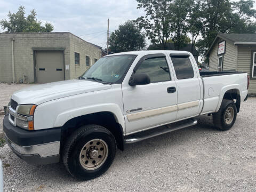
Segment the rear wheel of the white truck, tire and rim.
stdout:
<svg viewBox="0 0 256 192">
<path fill-rule="evenodd" d="M 236 114 L 235 103 L 231 100 L 223 99 L 219 111 L 212 114 L 213 124 L 217 129 L 227 131 L 234 125 Z"/>
</svg>

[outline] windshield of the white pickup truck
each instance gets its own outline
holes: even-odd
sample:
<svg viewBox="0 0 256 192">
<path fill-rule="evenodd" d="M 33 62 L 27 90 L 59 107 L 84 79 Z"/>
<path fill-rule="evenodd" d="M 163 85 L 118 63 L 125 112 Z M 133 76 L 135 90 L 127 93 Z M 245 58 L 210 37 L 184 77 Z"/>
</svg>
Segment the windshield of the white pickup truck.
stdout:
<svg viewBox="0 0 256 192">
<path fill-rule="evenodd" d="M 99 59 L 82 78 L 106 83 L 121 83 L 137 55 L 114 55 Z"/>
</svg>

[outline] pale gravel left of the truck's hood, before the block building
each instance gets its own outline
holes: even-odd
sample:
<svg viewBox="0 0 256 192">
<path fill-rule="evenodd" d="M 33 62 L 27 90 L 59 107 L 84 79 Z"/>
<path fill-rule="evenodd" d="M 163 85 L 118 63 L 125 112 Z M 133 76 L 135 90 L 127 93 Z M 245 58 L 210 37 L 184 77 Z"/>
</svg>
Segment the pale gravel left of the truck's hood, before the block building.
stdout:
<svg viewBox="0 0 256 192">
<path fill-rule="evenodd" d="M 35 85 L 35 84 L 17 84 L 17 83 L 0 83 L 0 135 L 1 132 L 3 131 L 3 119 L 4 116 L 2 115 L 4 113 L 4 108 L 3 106 L 8 105 L 10 102 L 12 93 L 14 91 L 18 91 L 20 89 L 23 89 L 25 87 Z"/>
</svg>

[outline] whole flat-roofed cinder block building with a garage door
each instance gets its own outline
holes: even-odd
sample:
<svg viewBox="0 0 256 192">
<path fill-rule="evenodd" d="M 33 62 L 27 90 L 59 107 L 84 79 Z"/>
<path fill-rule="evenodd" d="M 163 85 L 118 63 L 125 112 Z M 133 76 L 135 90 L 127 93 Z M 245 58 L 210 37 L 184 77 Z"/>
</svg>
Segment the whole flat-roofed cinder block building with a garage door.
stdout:
<svg viewBox="0 0 256 192">
<path fill-rule="evenodd" d="M 100 46 L 68 32 L 0 34 L 0 82 L 75 79 L 100 58 Z"/>
</svg>

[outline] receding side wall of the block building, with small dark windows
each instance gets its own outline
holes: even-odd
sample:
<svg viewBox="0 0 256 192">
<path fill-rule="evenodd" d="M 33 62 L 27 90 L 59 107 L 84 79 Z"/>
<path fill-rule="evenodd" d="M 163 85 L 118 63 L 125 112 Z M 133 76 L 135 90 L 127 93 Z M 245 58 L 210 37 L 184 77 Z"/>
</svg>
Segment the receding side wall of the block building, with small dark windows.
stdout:
<svg viewBox="0 0 256 192">
<path fill-rule="evenodd" d="M 73 35 L 70 35 L 70 76 L 71 79 L 78 78 L 87 69 L 85 57 L 90 57 L 90 67 L 94 64 L 94 59 L 99 60 L 101 58 L 101 48 L 84 41 L 83 39 Z M 80 65 L 75 65 L 75 52 L 80 55 Z"/>
</svg>

